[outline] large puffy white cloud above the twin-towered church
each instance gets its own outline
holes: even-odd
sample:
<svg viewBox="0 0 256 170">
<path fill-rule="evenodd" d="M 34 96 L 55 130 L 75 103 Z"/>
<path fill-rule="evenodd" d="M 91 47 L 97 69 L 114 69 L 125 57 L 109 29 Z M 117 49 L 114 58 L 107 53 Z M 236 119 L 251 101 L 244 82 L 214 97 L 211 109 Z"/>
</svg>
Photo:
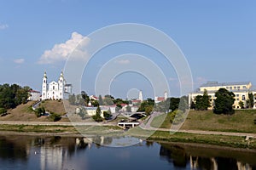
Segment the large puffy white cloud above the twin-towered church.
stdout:
<svg viewBox="0 0 256 170">
<path fill-rule="evenodd" d="M 49 50 L 45 50 L 44 54 L 40 57 L 39 64 L 53 64 L 55 62 L 67 60 L 68 56 L 73 53 L 73 50 L 79 45 L 79 42 L 83 41 L 83 46 L 89 42 L 88 37 L 83 37 L 77 32 L 73 32 L 72 36 L 67 42 L 55 44 L 55 46 Z M 84 58 L 86 53 L 80 49 L 76 49 L 74 55 L 79 59 Z"/>
</svg>

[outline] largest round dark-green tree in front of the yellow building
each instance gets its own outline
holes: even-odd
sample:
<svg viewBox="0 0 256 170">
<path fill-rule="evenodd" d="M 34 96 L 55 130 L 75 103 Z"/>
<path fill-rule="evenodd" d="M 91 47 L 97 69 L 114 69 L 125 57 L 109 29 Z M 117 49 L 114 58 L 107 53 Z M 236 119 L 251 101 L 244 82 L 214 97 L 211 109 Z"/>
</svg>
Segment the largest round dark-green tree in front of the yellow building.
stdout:
<svg viewBox="0 0 256 170">
<path fill-rule="evenodd" d="M 214 113 L 227 115 L 235 113 L 233 109 L 235 94 L 233 94 L 233 92 L 230 92 L 225 88 L 219 88 L 215 93 L 215 96 L 216 99 L 214 100 L 215 105 L 213 108 Z"/>
</svg>

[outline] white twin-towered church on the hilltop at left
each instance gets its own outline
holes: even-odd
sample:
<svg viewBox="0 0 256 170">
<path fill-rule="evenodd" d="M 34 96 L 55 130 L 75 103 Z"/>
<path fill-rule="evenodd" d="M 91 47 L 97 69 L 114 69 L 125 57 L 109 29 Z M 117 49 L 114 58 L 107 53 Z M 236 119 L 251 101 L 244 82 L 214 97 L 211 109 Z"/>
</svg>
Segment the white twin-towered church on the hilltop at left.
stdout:
<svg viewBox="0 0 256 170">
<path fill-rule="evenodd" d="M 68 96 L 72 94 L 72 85 L 67 84 L 63 72 L 58 82 L 47 83 L 46 72 L 44 72 L 44 78 L 42 83 L 42 100 L 44 99 L 68 99 Z"/>
</svg>

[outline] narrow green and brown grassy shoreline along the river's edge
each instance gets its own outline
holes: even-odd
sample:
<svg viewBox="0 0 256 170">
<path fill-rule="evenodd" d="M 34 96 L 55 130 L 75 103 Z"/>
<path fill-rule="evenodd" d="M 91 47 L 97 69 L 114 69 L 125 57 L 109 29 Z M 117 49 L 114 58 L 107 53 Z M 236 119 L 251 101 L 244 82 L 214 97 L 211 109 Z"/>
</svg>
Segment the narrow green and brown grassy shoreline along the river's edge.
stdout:
<svg viewBox="0 0 256 170">
<path fill-rule="evenodd" d="M 24 123 L 26 124 L 26 122 Z M 98 133 L 90 133 L 84 136 L 82 133 L 72 126 L 51 124 L 51 125 L 10 125 L 0 124 L 0 135 L 22 135 L 22 136 L 61 136 L 61 137 L 92 137 L 101 134 L 107 134 L 113 130 L 116 132 L 124 132 L 122 129 L 118 129 L 113 126 L 103 127 L 104 131 Z M 116 129 L 115 129 L 116 128 Z M 102 133 L 103 132 L 103 133 Z M 104 133 L 105 132 L 105 133 Z M 139 131 L 138 131 L 139 132 Z M 169 132 L 155 131 L 149 137 L 145 137 L 143 133 L 127 133 L 127 135 L 140 138 L 147 141 L 154 141 L 160 143 L 172 143 L 172 144 L 189 144 L 189 145 L 207 145 L 211 147 L 228 147 L 233 149 L 241 150 L 254 150 L 256 151 L 256 139 L 249 139 L 245 141 L 244 137 L 241 136 L 224 136 L 214 134 L 195 134 L 195 133 L 175 133 L 170 135 Z M 220 139 L 223 138 L 223 139 Z"/>
</svg>

